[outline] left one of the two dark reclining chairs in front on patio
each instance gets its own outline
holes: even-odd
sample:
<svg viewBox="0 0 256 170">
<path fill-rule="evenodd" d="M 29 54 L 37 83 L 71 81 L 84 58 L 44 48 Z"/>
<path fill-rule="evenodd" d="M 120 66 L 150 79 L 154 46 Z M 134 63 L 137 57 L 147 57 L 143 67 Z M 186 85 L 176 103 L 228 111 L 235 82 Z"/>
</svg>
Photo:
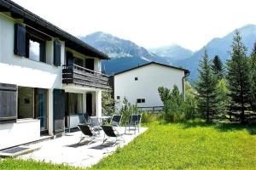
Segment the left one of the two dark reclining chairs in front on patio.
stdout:
<svg viewBox="0 0 256 170">
<path fill-rule="evenodd" d="M 81 130 L 82 134 L 81 134 L 81 139 L 79 141 L 79 143 L 82 142 L 82 140 L 84 138 L 86 138 L 86 136 L 88 136 L 90 138 L 90 143 L 92 143 L 96 137 L 98 136 L 98 134 L 89 126 L 89 125 L 86 125 L 86 124 L 79 124 L 78 125 L 79 129 Z M 83 134 L 84 134 L 84 137 L 83 137 Z M 79 144 L 78 143 L 78 144 Z"/>
</svg>

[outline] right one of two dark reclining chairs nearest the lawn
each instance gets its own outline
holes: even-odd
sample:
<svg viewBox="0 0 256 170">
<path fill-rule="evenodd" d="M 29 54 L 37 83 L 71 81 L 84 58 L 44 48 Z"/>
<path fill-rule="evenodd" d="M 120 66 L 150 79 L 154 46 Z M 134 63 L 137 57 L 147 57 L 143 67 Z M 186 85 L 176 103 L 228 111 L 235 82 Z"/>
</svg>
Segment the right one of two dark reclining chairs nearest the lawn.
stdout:
<svg viewBox="0 0 256 170">
<path fill-rule="evenodd" d="M 104 144 L 108 140 L 108 138 L 105 139 L 106 135 L 110 138 L 115 138 L 114 144 L 116 144 L 117 141 L 120 141 L 120 140 L 125 142 L 125 139 L 123 138 L 123 134 L 119 133 L 114 127 L 108 126 L 108 125 L 102 125 L 102 129 L 104 131 L 104 138 L 103 138 L 102 144 Z"/>
</svg>

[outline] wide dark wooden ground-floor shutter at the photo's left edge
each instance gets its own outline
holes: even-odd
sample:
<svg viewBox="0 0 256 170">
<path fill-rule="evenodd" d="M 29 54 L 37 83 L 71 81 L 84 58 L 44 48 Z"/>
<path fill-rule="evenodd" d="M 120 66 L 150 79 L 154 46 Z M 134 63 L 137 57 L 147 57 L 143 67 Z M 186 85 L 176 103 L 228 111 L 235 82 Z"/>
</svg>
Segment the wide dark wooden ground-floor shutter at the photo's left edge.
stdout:
<svg viewBox="0 0 256 170">
<path fill-rule="evenodd" d="M 17 86 L 0 83 L 0 123 L 17 120 Z"/>
</svg>

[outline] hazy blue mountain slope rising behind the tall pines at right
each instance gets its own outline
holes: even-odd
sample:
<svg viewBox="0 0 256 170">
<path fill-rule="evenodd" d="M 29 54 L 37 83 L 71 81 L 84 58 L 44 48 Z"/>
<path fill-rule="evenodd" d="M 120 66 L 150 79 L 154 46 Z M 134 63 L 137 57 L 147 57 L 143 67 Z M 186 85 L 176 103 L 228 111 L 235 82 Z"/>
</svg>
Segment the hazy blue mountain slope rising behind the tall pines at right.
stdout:
<svg viewBox="0 0 256 170">
<path fill-rule="evenodd" d="M 235 31 L 235 30 L 234 30 Z M 215 55 L 218 55 L 220 59 L 225 63 L 227 59 L 230 59 L 231 44 L 234 36 L 234 31 L 231 31 L 224 37 L 213 38 L 212 41 L 208 42 L 205 46 L 209 58 L 212 59 Z M 256 26 L 247 25 L 238 29 L 241 34 L 242 42 L 246 45 L 248 51 L 247 55 L 251 54 L 253 49 L 253 43 L 256 42 Z M 190 79 L 197 79 L 197 67 L 199 60 L 202 58 L 204 48 L 196 51 L 188 59 L 176 60 L 173 65 L 182 66 L 183 68 L 189 69 Z"/>
</svg>

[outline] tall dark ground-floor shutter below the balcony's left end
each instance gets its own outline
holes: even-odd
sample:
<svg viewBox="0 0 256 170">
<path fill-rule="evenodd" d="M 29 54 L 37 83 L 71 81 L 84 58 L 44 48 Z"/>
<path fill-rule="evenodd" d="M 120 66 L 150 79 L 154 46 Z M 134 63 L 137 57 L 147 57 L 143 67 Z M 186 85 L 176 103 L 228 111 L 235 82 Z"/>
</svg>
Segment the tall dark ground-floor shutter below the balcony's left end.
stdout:
<svg viewBox="0 0 256 170">
<path fill-rule="evenodd" d="M 54 132 L 62 132 L 64 129 L 65 117 L 65 91 L 62 89 L 54 89 Z"/>
</svg>

